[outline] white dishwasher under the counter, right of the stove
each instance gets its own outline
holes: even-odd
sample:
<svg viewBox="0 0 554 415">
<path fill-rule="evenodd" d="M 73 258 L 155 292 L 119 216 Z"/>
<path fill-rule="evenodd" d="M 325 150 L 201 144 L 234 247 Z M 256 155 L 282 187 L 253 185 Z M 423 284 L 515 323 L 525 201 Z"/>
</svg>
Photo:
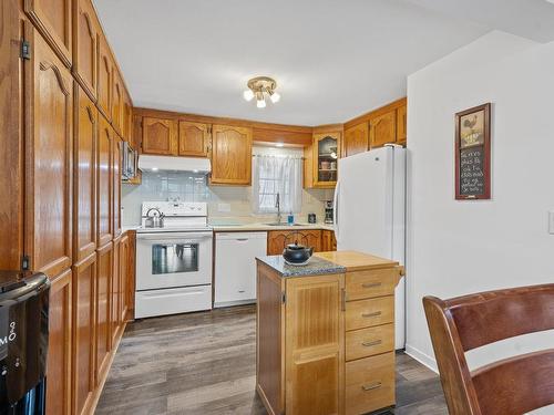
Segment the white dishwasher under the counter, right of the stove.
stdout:
<svg viewBox="0 0 554 415">
<path fill-rule="evenodd" d="M 267 232 L 215 234 L 214 307 L 256 302 L 256 257 L 267 255 Z"/>
</svg>

